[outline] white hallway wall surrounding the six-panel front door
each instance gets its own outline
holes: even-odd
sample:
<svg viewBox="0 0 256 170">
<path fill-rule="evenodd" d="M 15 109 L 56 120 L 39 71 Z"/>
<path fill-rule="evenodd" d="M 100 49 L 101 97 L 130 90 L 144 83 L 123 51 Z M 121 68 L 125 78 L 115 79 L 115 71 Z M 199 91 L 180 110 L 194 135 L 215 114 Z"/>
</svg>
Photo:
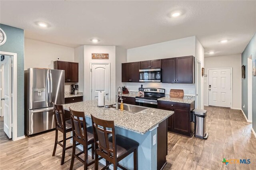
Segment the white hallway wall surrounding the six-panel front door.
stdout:
<svg viewBox="0 0 256 170">
<path fill-rule="evenodd" d="M 210 68 L 233 68 L 233 108 L 241 109 L 242 103 L 242 62 L 241 54 L 204 58 L 204 71 Z M 208 105 L 208 76 L 204 77 L 204 105 Z"/>
</svg>

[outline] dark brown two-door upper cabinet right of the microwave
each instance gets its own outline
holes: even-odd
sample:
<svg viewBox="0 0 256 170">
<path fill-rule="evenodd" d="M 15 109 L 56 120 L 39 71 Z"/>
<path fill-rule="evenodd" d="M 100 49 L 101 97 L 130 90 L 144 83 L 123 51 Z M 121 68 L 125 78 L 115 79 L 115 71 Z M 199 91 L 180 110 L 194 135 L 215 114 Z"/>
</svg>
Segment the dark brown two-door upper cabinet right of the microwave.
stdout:
<svg viewBox="0 0 256 170">
<path fill-rule="evenodd" d="M 194 83 L 195 57 L 162 59 L 162 83 Z"/>
</svg>

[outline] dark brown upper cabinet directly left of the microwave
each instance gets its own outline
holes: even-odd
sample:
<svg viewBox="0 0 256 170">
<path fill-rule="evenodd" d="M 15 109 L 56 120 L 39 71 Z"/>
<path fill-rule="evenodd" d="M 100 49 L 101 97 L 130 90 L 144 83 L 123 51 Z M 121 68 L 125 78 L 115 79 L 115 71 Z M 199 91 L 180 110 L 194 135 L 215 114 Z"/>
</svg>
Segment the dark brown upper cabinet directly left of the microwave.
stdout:
<svg viewBox="0 0 256 170">
<path fill-rule="evenodd" d="M 122 63 L 122 82 L 140 82 L 140 62 Z"/>
</svg>

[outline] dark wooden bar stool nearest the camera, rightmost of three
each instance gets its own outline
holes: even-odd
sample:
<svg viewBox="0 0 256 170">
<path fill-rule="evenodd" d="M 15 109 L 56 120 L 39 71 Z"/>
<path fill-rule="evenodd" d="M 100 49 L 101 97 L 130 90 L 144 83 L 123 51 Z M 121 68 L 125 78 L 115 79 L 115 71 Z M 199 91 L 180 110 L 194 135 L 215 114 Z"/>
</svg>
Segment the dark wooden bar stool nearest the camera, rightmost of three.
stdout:
<svg viewBox="0 0 256 170">
<path fill-rule="evenodd" d="M 94 170 L 98 170 L 98 156 L 106 159 L 107 162 L 106 166 L 104 166 L 102 170 L 108 168 L 110 164 L 114 165 L 114 170 L 117 170 L 117 167 L 123 170 L 127 170 L 126 168 L 118 164 L 118 162 L 132 152 L 134 160 L 134 170 L 137 170 L 137 150 L 139 143 L 131 140 L 130 138 L 115 134 L 114 121 L 98 119 L 92 115 L 91 117 L 96 151 Z M 108 137 L 109 134 L 112 134 L 112 136 Z"/>
</svg>

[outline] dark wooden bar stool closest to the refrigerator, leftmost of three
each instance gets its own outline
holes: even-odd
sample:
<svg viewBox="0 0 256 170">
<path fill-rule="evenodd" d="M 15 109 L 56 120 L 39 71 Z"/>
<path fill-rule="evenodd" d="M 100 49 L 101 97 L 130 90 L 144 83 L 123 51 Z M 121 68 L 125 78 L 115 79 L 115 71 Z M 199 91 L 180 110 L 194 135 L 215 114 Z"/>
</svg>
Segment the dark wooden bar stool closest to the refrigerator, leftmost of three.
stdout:
<svg viewBox="0 0 256 170">
<path fill-rule="evenodd" d="M 72 138 L 72 136 L 67 138 L 66 133 L 72 131 L 72 125 L 71 125 L 71 120 L 65 121 L 64 109 L 62 105 L 55 105 L 53 103 L 53 107 L 54 107 L 56 131 L 55 131 L 55 142 L 54 142 L 54 149 L 53 149 L 52 156 L 55 155 L 57 144 L 59 144 L 62 147 L 62 156 L 61 156 L 60 164 L 63 165 L 66 149 L 72 148 L 72 146 L 66 147 L 66 140 Z M 63 133 L 63 139 L 60 141 L 58 141 L 58 131 Z M 61 142 L 63 142 L 63 144 L 61 144 Z"/>
</svg>

